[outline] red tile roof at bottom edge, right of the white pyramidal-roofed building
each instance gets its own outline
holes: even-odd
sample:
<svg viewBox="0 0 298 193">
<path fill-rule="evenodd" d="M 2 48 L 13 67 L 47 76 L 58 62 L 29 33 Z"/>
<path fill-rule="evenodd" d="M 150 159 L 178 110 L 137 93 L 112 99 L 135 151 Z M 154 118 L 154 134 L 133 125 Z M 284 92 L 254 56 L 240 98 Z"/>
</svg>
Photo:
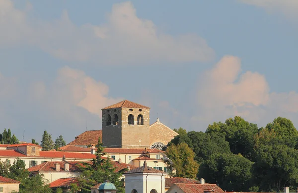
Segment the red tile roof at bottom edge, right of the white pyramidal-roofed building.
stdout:
<svg viewBox="0 0 298 193">
<path fill-rule="evenodd" d="M 224 193 L 224 191 L 218 187 L 216 184 L 182 184 L 176 183 L 177 187 L 179 187 L 184 193 L 204 193 L 204 191 L 211 191 L 213 193 Z"/>
</svg>

